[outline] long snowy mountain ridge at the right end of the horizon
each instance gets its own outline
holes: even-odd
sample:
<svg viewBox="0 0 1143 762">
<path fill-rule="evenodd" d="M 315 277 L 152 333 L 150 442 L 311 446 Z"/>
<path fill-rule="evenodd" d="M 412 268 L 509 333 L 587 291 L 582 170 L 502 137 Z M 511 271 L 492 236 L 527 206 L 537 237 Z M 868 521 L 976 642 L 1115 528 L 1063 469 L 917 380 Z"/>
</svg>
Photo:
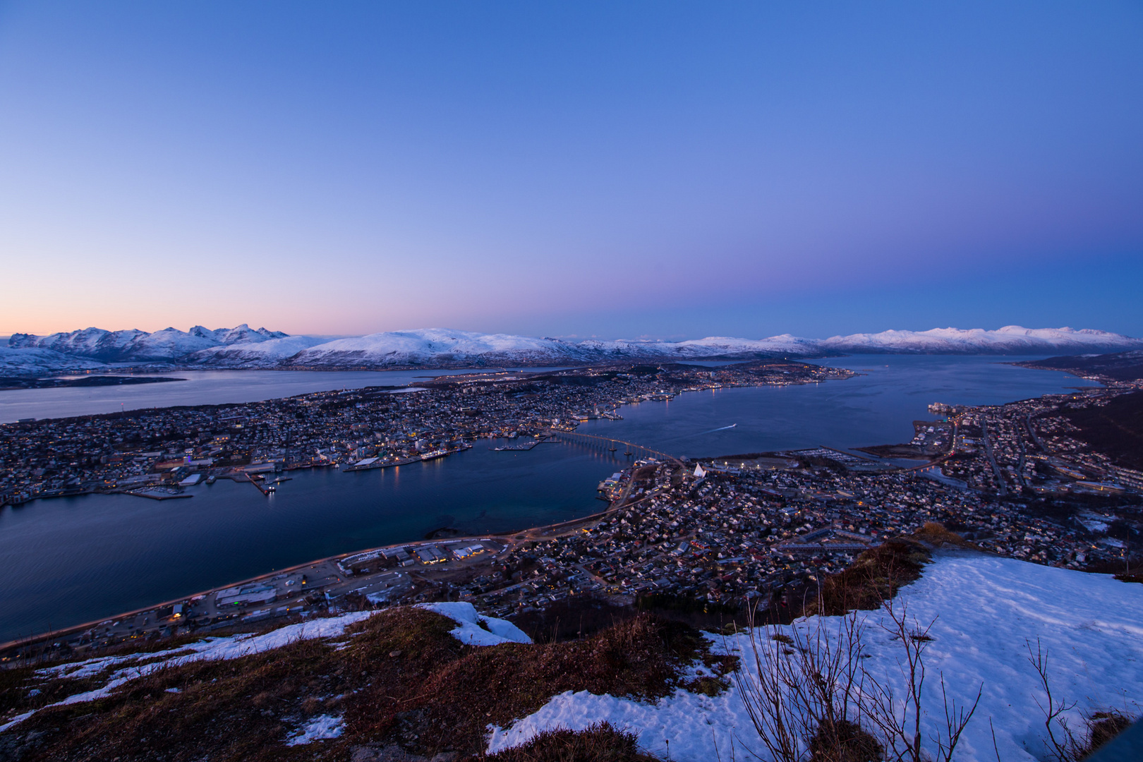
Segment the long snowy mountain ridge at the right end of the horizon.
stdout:
<svg viewBox="0 0 1143 762">
<path fill-rule="evenodd" d="M 998 330 L 934 328 L 927 331 L 887 330 L 880 334 L 834 336 L 818 342 L 823 350 L 841 352 L 903 352 L 942 354 L 1040 354 L 1053 352 L 1121 352 L 1143 348 L 1143 339 L 1073 328 L 1023 328 Z"/>
</svg>

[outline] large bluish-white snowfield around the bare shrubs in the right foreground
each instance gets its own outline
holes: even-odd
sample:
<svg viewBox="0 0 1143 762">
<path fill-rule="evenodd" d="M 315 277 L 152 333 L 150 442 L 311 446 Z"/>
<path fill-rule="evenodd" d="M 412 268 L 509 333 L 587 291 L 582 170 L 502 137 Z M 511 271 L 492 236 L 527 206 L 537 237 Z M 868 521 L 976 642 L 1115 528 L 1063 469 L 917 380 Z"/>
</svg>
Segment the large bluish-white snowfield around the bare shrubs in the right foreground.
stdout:
<svg viewBox="0 0 1143 762">
<path fill-rule="evenodd" d="M 936 618 L 926 653 L 926 739 L 936 731 L 935 715 L 942 712 L 938 673 L 944 674 L 950 696 L 968 705 L 983 683 L 980 708 L 957 749 L 959 761 L 996 760 L 990 716 L 1000 759 L 1032 762 L 1044 751 L 1044 716 L 1036 700 L 1045 697 L 1028 663 L 1029 639 L 1039 637 L 1049 651 L 1056 698 L 1078 701 L 1070 713 L 1073 728 L 1082 727 L 1082 712 L 1112 707 L 1138 715 L 1143 711 L 1143 585 L 1012 559 L 946 555 L 903 588 L 898 601 L 908 602 L 909 613 L 922 623 Z M 886 615 L 862 615 L 866 651 L 872 655 L 866 667 L 887 675 L 901 696 L 900 644 L 877 626 Z M 808 631 L 813 621 L 792 626 Z M 828 618 L 826 629 L 832 632 L 836 623 L 837 618 Z M 711 637 L 716 649 L 750 653 L 744 634 Z M 766 637 L 762 642 L 781 647 Z M 751 661 L 743 659 L 748 669 Z M 745 759 L 750 751 L 766 759 L 734 687 L 713 698 L 678 690 L 656 704 L 585 691 L 562 693 L 511 728 L 493 729 L 488 752 L 526 743 L 542 730 L 580 730 L 602 720 L 639 733 L 642 747 L 680 762 Z M 749 751 L 742 748 L 743 741 Z"/>
</svg>

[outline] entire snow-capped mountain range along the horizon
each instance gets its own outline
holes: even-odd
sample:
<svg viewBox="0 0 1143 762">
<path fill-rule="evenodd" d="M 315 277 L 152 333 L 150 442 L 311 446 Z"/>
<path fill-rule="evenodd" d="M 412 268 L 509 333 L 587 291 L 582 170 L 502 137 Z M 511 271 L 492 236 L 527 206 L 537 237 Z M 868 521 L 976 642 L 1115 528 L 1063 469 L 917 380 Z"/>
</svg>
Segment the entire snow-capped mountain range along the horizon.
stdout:
<svg viewBox="0 0 1143 762">
<path fill-rule="evenodd" d="M 808 339 L 783 334 L 762 339 L 712 336 L 686 342 L 569 342 L 507 334 L 426 328 L 351 338 L 289 336 L 247 324 L 195 326 L 146 332 L 86 328 L 65 334 L 15 334 L 0 347 L 0 375 L 29 376 L 112 368 L 392 369 L 574 364 L 624 360 L 756 360 L 846 353 L 1082 354 L 1143 350 L 1143 339 L 1092 329 L 998 330 L 934 328 Z"/>
</svg>

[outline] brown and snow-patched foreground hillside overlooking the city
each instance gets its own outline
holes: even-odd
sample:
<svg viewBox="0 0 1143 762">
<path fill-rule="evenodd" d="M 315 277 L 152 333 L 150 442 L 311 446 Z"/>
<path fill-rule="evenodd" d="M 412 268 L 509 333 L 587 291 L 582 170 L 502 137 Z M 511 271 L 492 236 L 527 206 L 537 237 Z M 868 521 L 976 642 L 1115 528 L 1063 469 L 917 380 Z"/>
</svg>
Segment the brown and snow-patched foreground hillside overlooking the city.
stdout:
<svg viewBox="0 0 1143 762">
<path fill-rule="evenodd" d="M 958 761 L 992 762 L 993 727 L 1001 759 L 1042 754 L 1029 640 L 1048 650 L 1056 698 L 1079 701 L 1068 714 L 1074 724 L 1081 713 L 1143 705 L 1143 585 L 950 554 L 895 605 L 921 627 L 933 623 L 926 739 L 941 716 L 938 674 L 968 705 L 983 685 Z M 900 642 L 879 627 L 886 612 L 858 616 L 862 664 L 901 696 Z M 818 624 L 832 636 L 838 621 L 799 619 L 764 633 L 761 649 L 785 649 L 770 635 L 813 635 Z M 152 650 L 0 671 L 0 759 L 441 762 L 600 721 L 681 762 L 762 751 L 725 676 L 736 664 L 748 679 L 756 672 L 746 636 L 700 636 L 647 615 L 583 640 L 530 644 L 470 604 L 427 604 Z"/>
</svg>

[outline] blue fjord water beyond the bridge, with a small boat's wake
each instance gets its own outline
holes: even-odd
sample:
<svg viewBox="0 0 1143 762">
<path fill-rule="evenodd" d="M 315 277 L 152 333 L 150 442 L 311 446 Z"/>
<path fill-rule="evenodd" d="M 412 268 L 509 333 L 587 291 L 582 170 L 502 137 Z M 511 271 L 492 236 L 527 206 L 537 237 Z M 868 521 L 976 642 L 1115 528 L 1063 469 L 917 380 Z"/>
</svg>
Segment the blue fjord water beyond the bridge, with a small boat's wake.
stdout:
<svg viewBox="0 0 1143 762">
<path fill-rule="evenodd" d="M 1057 371 L 1010 364 L 1040 358 L 856 355 L 814 360 L 858 376 L 810 386 L 721 388 L 623 409 L 623 420 L 576 431 L 689 457 L 807 447 L 854 448 L 908 442 L 928 406 L 999 404 L 1093 386 Z M 733 427 L 732 427 L 733 426 Z"/>
</svg>

